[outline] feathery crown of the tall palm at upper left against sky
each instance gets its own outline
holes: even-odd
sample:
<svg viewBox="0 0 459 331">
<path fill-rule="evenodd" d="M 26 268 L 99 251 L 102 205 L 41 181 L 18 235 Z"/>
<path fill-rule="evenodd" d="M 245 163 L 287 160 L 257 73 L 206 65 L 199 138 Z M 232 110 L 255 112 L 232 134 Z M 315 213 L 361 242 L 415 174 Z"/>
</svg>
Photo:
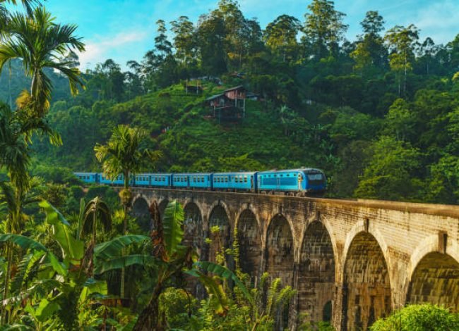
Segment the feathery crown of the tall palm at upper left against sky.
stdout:
<svg viewBox="0 0 459 331">
<path fill-rule="evenodd" d="M 25 1 L 25 4 L 30 3 Z M 76 25 L 54 23 L 54 18 L 43 7 L 35 8 L 30 16 L 22 13 L 9 15 L 4 29 L 8 39 L 0 44 L 0 73 L 5 63 L 20 58 L 25 73 L 32 79 L 30 91 L 24 90 L 16 101 L 19 108 L 28 109 L 36 117 L 47 113 L 52 82 L 44 68 L 65 75 L 73 95 L 78 93 L 78 86 L 84 87 L 80 70 L 73 68 L 73 61 L 63 59 L 68 52 L 85 49 L 81 38 L 73 35 L 75 30 Z"/>
</svg>

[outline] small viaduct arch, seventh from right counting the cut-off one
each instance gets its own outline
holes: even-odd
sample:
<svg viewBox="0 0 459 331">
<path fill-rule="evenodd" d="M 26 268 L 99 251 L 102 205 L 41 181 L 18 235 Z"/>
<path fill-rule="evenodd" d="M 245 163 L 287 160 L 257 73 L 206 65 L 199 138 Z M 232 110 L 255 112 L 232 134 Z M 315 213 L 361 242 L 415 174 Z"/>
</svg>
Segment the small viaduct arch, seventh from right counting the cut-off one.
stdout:
<svg viewBox="0 0 459 331">
<path fill-rule="evenodd" d="M 184 205 L 184 237 L 182 243 L 193 248 L 201 257 L 203 246 L 203 213 L 198 204 L 189 201 Z"/>
</svg>

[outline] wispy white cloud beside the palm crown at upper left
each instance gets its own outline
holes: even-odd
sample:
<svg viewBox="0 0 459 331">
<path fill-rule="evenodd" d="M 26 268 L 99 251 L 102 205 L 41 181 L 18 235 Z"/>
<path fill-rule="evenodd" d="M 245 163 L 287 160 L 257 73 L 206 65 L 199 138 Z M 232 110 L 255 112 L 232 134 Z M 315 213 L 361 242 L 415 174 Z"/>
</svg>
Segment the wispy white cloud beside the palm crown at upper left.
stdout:
<svg viewBox="0 0 459 331">
<path fill-rule="evenodd" d="M 120 32 L 114 36 L 96 37 L 86 42 L 85 51 L 78 54 L 80 67 L 92 68 L 96 63 L 107 58 L 117 61 L 117 54 L 132 49 L 136 44 L 143 42 L 148 34 L 145 31 Z"/>
</svg>

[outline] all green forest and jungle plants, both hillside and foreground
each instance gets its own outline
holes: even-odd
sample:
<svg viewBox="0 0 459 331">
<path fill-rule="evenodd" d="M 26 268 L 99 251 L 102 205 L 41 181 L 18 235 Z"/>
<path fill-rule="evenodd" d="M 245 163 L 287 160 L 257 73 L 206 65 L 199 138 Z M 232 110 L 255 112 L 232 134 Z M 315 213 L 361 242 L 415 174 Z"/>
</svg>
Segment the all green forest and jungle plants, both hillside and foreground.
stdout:
<svg viewBox="0 0 459 331">
<path fill-rule="evenodd" d="M 130 174 L 314 167 L 328 197 L 459 202 L 459 34 L 422 40 L 375 8 L 350 41 L 333 1 L 261 27 L 220 0 L 157 20 L 143 59 L 81 72 L 84 36 L 41 2 L 0 0 L 0 330 L 333 330 L 289 320 L 295 290 L 251 282 L 218 227 L 198 261 L 177 202 L 150 207 L 150 231 Z M 256 98 L 220 122 L 205 99 L 239 85 Z M 83 187 L 78 170 L 127 180 Z M 459 316 L 413 305 L 372 330 L 416 327 Z"/>
</svg>

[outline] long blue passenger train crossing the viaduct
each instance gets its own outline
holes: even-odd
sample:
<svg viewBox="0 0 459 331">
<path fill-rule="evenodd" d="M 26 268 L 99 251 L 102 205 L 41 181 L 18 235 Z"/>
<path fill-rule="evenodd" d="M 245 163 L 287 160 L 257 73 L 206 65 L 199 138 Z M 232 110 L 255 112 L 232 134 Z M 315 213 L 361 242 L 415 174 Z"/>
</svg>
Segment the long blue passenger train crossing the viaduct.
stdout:
<svg viewBox="0 0 459 331">
<path fill-rule="evenodd" d="M 107 179 L 102 173 L 75 173 L 88 184 L 124 185 L 124 176 Z M 177 187 L 213 191 L 285 193 L 304 196 L 326 190 L 326 176 L 314 168 L 236 173 L 141 173 L 130 179 L 134 187 Z"/>
</svg>

